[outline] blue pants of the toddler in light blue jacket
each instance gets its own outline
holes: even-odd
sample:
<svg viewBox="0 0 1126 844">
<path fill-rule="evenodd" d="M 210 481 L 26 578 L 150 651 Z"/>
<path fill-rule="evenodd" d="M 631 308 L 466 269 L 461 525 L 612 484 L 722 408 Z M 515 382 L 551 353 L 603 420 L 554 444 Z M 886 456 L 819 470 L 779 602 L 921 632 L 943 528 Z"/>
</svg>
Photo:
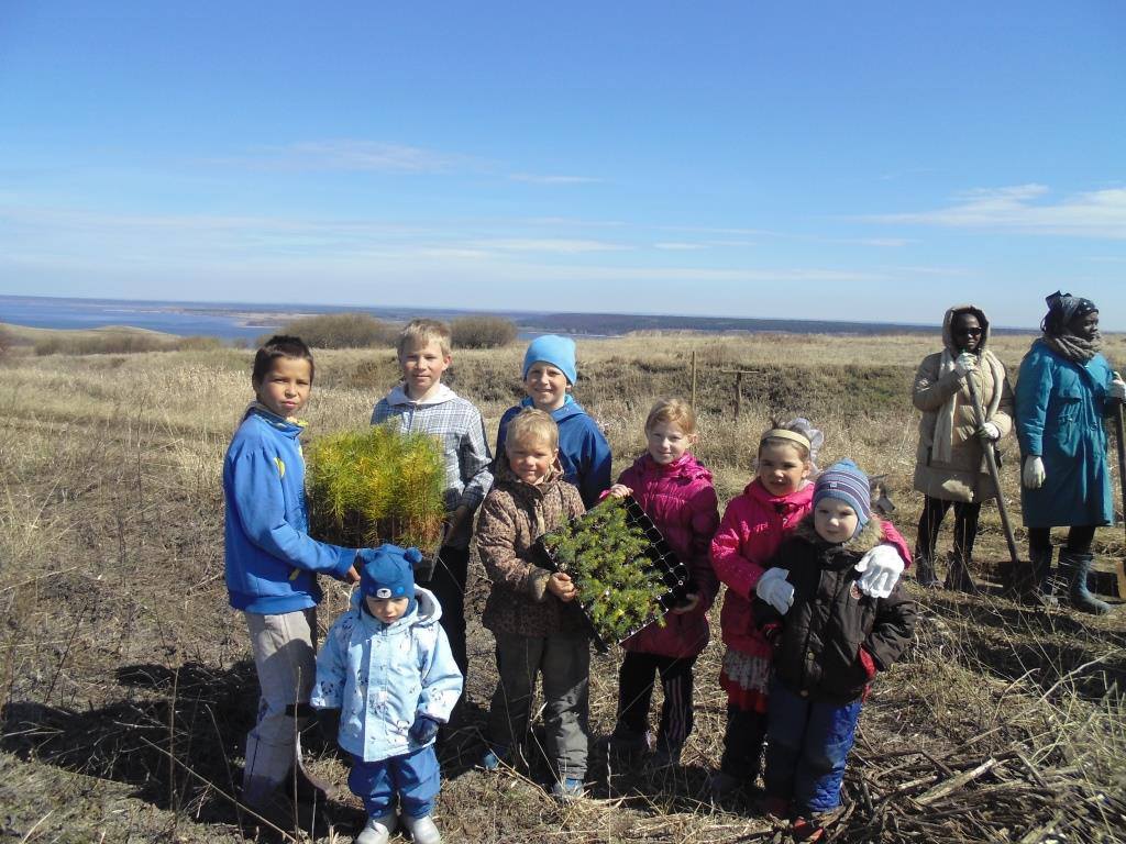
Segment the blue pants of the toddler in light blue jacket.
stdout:
<svg viewBox="0 0 1126 844">
<path fill-rule="evenodd" d="M 412 818 L 429 815 L 441 788 L 441 770 L 434 745 L 378 762 L 352 756 L 348 788 L 364 801 L 370 818 L 390 814 L 394 809 L 395 794 L 399 794 L 404 815 Z"/>
</svg>

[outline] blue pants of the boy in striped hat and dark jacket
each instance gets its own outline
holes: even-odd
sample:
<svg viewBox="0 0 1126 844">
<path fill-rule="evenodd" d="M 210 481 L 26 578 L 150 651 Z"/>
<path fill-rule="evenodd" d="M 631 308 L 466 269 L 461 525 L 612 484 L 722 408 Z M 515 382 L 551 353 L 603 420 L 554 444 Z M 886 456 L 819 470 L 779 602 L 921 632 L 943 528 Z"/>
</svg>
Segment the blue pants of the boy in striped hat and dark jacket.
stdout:
<svg viewBox="0 0 1126 844">
<path fill-rule="evenodd" d="M 840 806 L 844 762 L 852 749 L 860 701 L 826 703 L 770 683 L 766 792 L 793 801 L 797 815 Z"/>
</svg>

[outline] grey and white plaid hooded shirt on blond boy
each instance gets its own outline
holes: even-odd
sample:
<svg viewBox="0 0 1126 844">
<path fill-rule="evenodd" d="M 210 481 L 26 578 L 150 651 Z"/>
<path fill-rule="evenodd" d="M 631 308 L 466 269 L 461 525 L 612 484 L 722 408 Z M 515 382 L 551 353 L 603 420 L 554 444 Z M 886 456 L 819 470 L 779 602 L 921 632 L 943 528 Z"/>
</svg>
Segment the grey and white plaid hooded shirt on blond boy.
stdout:
<svg viewBox="0 0 1126 844">
<path fill-rule="evenodd" d="M 459 506 L 473 510 L 492 486 L 492 454 L 485 440 L 481 411 L 443 385 L 426 402 L 409 398 L 402 385 L 381 398 L 372 411 L 372 424 L 397 419 L 403 432 L 430 433 L 441 440 L 446 466 L 446 510 Z M 446 545 L 464 548 L 470 544 L 473 519 L 467 517 L 456 533 L 446 537 Z"/>
</svg>

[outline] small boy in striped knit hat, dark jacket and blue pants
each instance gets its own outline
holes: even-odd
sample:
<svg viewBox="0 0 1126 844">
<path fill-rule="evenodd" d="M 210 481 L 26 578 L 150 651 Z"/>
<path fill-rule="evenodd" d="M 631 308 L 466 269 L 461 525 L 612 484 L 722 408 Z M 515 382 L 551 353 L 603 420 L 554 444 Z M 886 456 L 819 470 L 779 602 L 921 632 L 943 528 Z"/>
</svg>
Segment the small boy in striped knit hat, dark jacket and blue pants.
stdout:
<svg viewBox="0 0 1126 844">
<path fill-rule="evenodd" d="M 823 472 L 813 513 L 779 547 L 756 587 L 756 622 L 776 647 L 770 686 L 767 809 L 815 841 L 817 817 L 840 805 L 860 706 L 878 671 L 914 631 L 915 605 L 896 584 L 860 592 L 857 564 L 884 541 L 867 476 L 851 460 Z"/>
</svg>

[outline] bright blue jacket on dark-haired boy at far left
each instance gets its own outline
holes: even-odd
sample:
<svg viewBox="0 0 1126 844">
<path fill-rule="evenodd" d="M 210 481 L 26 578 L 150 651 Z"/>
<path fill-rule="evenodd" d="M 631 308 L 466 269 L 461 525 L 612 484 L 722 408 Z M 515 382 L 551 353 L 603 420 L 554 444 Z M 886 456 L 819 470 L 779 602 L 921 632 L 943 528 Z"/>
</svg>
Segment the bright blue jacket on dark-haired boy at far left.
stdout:
<svg viewBox="0 0 1126 844">
<path fill-rule="evenodd" d="M 251 405 L 226 450 L 226 589 L 236 610 L 274 616 L 315 607 L 315 573 L 341 578 L 356 557 L 355 548 L 309 536 L 301 431 Z"/>
</svg>

